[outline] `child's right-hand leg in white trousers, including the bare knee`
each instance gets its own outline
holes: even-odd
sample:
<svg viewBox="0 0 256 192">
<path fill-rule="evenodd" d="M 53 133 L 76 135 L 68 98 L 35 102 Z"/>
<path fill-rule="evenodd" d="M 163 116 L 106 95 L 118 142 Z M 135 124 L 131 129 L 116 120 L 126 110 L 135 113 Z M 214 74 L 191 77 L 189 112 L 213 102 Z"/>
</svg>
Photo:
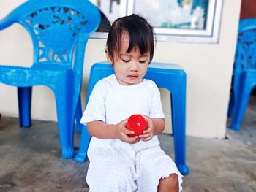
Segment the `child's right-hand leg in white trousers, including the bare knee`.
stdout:
<svg viewBox="0 0 256 192">
<path fill-rule="evenodd" d="M 182 175 L 176 164 L 160 147 L 141 150 L 136 154 L 136 167 L 140 177 L 138 192 L 181 191 Z"/>
</svg>

